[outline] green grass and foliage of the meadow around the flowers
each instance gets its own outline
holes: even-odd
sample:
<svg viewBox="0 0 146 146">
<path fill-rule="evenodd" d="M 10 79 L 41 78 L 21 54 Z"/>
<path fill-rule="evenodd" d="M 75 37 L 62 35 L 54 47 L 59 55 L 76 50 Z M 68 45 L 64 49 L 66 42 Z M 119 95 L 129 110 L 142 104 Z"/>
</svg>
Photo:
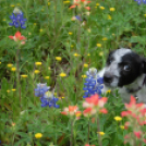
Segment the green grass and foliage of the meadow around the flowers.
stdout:
<svg viewBox="0 0 146 146">
<path fill-rule="evenodd" d="M 100 10 L 96 3 L 105 7 L 105 10 Z M 71 5 L 72 0 L 70 3 L 63 3 L 63 0 L 0 0 L 0 141 L 3 146 L 70 145 L 71 121 L 60 112 L 69 105 L 77 105 L 83 111 L 85 78 L 82 75 L 89 68 L 100 70 L 109 51 L 120 47 L 146 56 L 145 4 L 138 5 L 134 0 L 93 0 L 88 4 L 89 15 L 86 15 L 85 9 L 69 9 Z M 9 26 L 9 16 L 14 7 L 24 12 L 26 29 Z M 111 12 L 110 8 L 115 8 L 115 11 Z M 74 15 L 82 15 L 85 25 L 83 21 L 72 21 Z M 108 20 L 109 15 L 111 20 Z M 27 38 L 19 56 L 20 74 L 27 75 L 27 78 L 21 77 L 20 81 L 21 101 L 16 87 L 17 72 L 7 66 L 12 63 L 16 68 L 17 47 L 9 36 L 17 31 Z M 102 40 L 105 37 L 107 40 Z M 101 47 L 97 47 L 97 44 L 101 44 Z M 57 61 L 56 57 L 62 60 Z M 36 66 L 37 61 L 42 65 Z M 84 68 L 85 63 L 88 68 Z M 35 74 L 35 70 L 40 73 Z M 66 77 L 60 77 L 61 72 Z M 59 109 L 41 108 L 39 98 L 34 96 L 37 83 L 47 83 L 51 87 L 60 99 Z M 16 90 L 12 92 L 13 88 Z M 108 97 L 106 108 L 109 113 L 99 114 L 100 130 L 105 132 L 102 146 L 123 146 L 127 132 L 120 125 L 126 120 L 117 123 L 113 118 L 121 114 L 124 105 L 118 94 L 105 96 Z M 89 139 L 90 144 L 98 146 L 96 126 L 90 122 Z M 82 115 L 74 124 L 75 146 L 87 143 L 87 130 L 88 120 Z M 35 138 L 36 133 L 41 133 L 42 137 Z"/>
</svg>

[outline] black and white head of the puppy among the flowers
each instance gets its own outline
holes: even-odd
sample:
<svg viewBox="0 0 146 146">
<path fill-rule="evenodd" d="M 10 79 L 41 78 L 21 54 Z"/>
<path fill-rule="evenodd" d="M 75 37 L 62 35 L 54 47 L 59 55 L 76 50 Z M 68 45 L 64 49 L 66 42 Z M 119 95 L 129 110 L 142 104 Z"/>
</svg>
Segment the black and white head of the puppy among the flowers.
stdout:
<svg viewBox="0 0 146 146">
<path fill-rule="evenodd" d="M 122 87 L 146 73 L 146 60 L 130 49 L 118 49 L 109 53 L 104 83 L 109 87 Z"/>
</svg>

